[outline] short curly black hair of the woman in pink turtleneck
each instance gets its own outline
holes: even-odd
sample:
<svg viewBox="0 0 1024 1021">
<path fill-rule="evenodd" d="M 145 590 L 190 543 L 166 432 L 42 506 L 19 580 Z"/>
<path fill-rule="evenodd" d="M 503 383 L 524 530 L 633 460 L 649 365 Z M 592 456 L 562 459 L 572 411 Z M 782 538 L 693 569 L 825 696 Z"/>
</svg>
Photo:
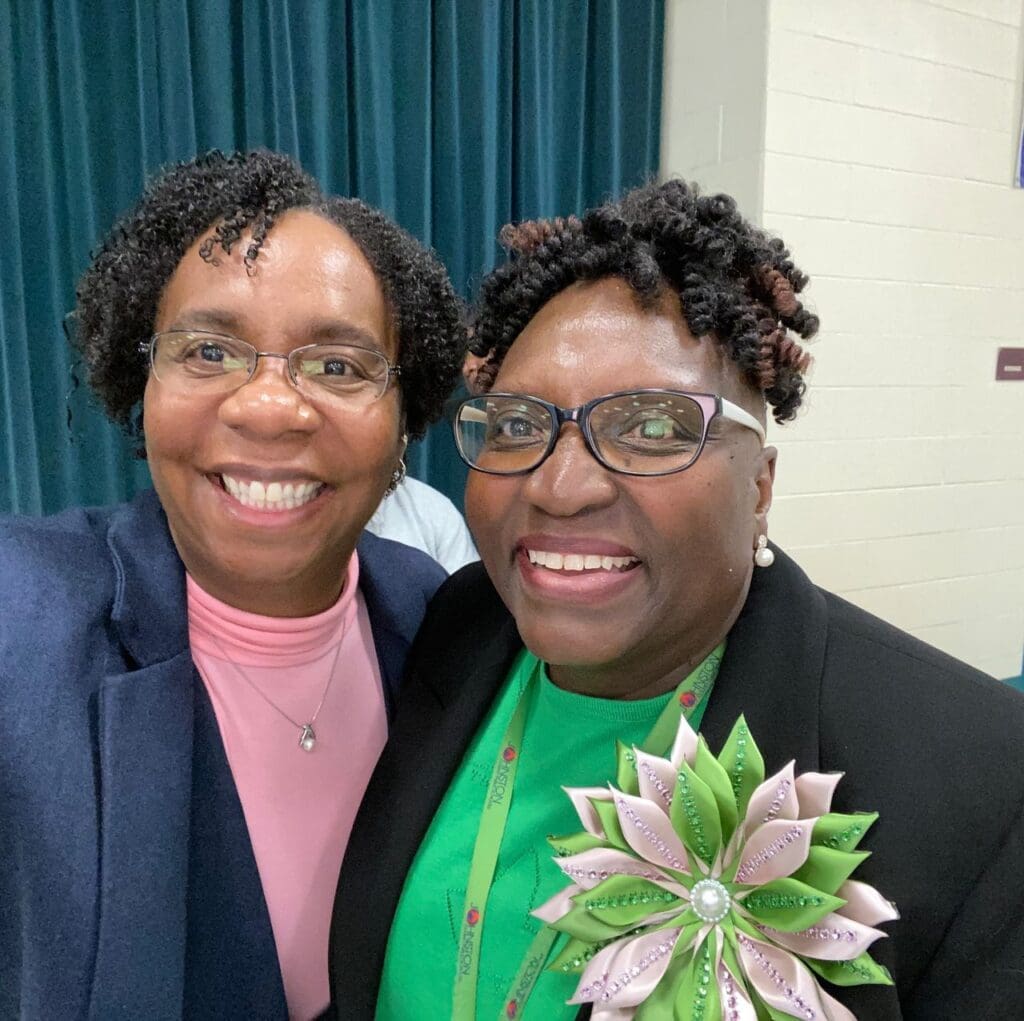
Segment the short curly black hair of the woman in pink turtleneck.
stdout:
<svg viewBox="0 0 1024 1021">
<path fill-rule="evenodd" d="M 358 199 L 325 196 L 290 157 L 266 150 L 214 151 L 154 178 L 112 229 L 78 285 L 73 343 L 108 415 L 134 436 L 144 427 L 147 364 L 139 344 L 154 331 L 167 282 L 211 227 L 200 255 L 216 261 L 248 232 L 252 270 L 268 231 L 290 209 L 308 209 L 345 230 L 381 283 L 398 337 L 402 410 L 410 436 L 441 414 L 466 350 L 464 315 L 436 256 Z"/>
</svg>

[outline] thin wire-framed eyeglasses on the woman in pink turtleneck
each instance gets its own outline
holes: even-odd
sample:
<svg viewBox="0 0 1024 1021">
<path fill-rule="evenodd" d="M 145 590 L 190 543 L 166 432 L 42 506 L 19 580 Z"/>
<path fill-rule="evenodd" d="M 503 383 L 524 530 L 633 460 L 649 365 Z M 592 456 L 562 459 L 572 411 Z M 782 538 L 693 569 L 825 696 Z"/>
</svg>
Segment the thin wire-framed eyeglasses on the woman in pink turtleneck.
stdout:
<svg viewBox="0 0 1024 1021">
<path fill-rule="evenodd" d="M 207 330 L 166 330 L 139 344 L 139 351 L 148 355 L 150 369 L 162 383 L 196 393 L 245 386 L 260 358 L 284 359 L 292 385 L 302 392 L 359 406 L 383 397 L 401 374 L 382 351 L 356 344 L 306 344 L 282 354 Z"/>
</svg>

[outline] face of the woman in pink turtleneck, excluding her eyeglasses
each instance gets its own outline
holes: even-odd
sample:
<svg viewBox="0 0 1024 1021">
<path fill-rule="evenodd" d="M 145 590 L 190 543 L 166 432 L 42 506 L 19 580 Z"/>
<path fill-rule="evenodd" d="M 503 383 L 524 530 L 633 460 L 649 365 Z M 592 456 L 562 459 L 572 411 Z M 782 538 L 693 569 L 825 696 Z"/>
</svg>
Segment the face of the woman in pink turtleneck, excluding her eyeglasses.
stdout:
<svg viewBox="0 0 1024 1021">
<path fill-rule="evenodd" d="M 287 213 L 252 274 L 243 262 L 247 239 L 229 255 L 215 249 L 217 265 L 200 257 L 202 241 L 168 282 L 157 332 L 214 331 L 281 354 L 339 341 L 395 360 L 380 284 L 354 242 L 332 223 L 310 212 Z M 304 396 L 282 358 L 260 358 L 252 380 L 227 393 L 182 392 L 151 373 L 143 424 L 171 534 L 203 588 L 272 615 L 332 604 L 402 453 L 394 386 L 369 407 L 351 408 L 336 397 Z M 274 484 L 285 495 L 291 485 L 297 506 L 257 509 L 239 499 Z M 268 505 L 271 495 L 280 496 L 270 491 Z"/>
</svg>

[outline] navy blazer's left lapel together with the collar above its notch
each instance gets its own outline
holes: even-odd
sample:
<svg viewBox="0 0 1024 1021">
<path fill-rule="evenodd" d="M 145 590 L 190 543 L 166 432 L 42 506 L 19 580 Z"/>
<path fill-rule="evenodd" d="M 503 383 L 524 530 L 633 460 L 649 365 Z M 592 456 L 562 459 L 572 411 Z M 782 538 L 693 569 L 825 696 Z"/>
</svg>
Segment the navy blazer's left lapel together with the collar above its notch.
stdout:
<svg viewBox="0 0 1024 1021">
<path fill-rule="evenodd" d="M 123 660 L 97 698 L 99 931 L 89 1016 L 179 1018 L 193 677 L 184 570 L 156 495 L 115 512 Z"/>
</svg>

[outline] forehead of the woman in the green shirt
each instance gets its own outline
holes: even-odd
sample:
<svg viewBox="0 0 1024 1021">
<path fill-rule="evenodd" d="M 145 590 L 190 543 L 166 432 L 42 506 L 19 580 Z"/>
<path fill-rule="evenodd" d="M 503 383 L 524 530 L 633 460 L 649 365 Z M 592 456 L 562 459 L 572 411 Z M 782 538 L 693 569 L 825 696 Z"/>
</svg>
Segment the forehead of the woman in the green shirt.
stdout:
<svg viewBox="0 0 1024 1021">
<path fill-rule="evenodd" d="M 732 395 L 738 374 L 710 337 L 694 337 L 678 297 L 641 307 L 618 278 L 561 291 L 509 349 L 496 390 L 583 403 L 614 390 L 666 387 Z"/>
</svg>

